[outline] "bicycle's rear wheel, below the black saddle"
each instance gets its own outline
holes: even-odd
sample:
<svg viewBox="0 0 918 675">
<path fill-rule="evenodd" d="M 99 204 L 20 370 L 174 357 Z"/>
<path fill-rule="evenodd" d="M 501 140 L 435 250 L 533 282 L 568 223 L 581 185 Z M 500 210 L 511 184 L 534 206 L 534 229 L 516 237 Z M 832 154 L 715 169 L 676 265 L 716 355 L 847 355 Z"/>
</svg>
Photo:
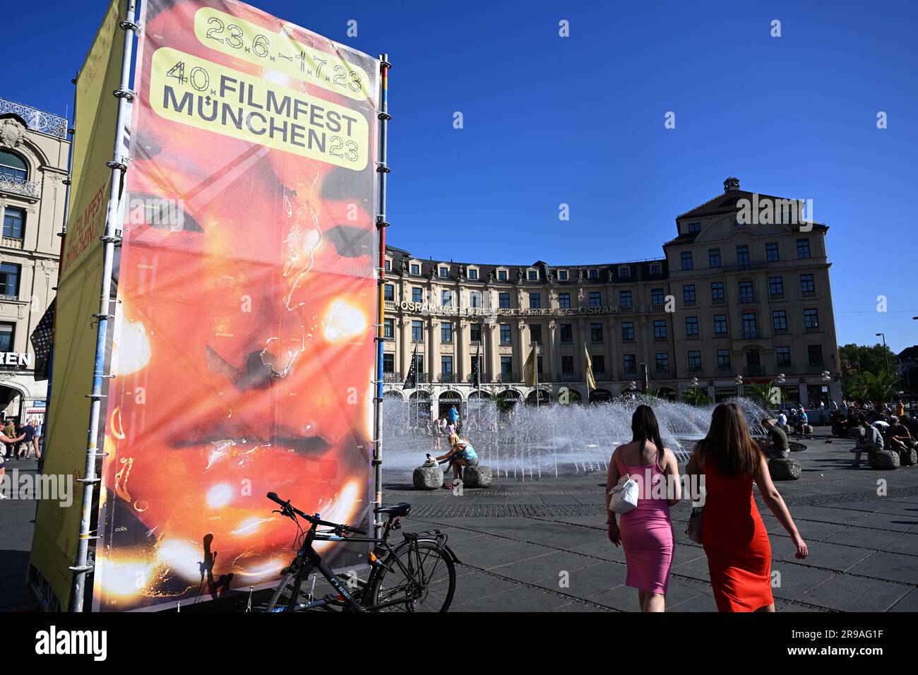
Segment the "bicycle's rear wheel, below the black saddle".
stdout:
<svg viewBox="0 0 918 675">
<path fill-rule="evenodd" d="M 434 542 L 405 542 L 383 561 L 370 590 L 369 611 L 446 612 L 453 602 L 453 558 Z M 388 603 L 392 604 L 388 604 Z"/>
</svg>

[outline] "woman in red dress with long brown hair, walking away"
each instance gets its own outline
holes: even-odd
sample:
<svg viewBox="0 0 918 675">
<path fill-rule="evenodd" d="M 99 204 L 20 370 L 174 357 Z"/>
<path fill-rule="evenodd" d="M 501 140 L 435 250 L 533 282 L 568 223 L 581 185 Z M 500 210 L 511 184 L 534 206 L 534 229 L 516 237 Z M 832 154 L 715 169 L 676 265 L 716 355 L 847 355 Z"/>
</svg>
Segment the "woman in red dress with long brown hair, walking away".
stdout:
<svg viewBox="0 0 918 675">
<path fill-rule="evenodd" d="M 714 409 L 711 429 L 695 446 L 686 472 L 701 477 L 701 541 L 717 609 L 774 612 L 771 546 L 753 497 L 754 480 L 762 499 L 790 534 L 798 558 L 807 557 L 807 546 L 771 481 L 767 459 L 749 435 L 738 405 L 722 403 Z M 695 489 L 691 491 L 698 501 Z"/>
</svg>

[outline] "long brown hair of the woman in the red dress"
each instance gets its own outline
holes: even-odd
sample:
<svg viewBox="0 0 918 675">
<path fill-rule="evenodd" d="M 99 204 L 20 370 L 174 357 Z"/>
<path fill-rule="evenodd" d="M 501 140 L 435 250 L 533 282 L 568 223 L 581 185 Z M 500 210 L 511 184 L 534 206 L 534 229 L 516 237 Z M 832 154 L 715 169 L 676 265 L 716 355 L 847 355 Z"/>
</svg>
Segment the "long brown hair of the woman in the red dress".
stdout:
<svg viewBox="0 0 918 675">
<path fill-rule="evenodd" d="M 762 461 L 762 448 L 749 434 L 743 409 L 735 403 L 721 403 L 711 415 L 711 429 L 695 446 L 699 461 L 711 462 L 730 478 L 749 478 Z"/>
</svg>

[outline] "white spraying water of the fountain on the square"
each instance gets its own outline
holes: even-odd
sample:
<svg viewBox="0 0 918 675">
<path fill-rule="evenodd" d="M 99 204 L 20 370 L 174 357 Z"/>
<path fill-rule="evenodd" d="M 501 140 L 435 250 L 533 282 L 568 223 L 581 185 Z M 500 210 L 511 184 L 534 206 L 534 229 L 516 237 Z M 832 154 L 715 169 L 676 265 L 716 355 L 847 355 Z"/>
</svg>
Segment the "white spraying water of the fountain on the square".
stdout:
<svg viewBox="0 0 918 675">
<path fill-rule="evenodd" d="M 749 399 L 732 400 L 743 409 L 752 433 L 764 433 L 760 421 L 765 411 Z M 695 441 L 708 433 L 713 404 L 696 407 L 637 396 L 590 405 L 517 403 L 507 409 L 484 400 L 469 403 L 460 435 L 496 476 L 532 479 L 605 471 L 612 451 L 631 441 L 632 415 L 641 403 L 654 409 L 666 447 L 680 462 L 688 461 Z M 436 433 L 436 418 L 425 411 L 419 415 L 415 404 L 406 401 L 383 402 L 384 469 L 389 475 L 407 474 L 427 453 L 440 456 L 449 450 L 445 436 Z"/>
</svg>

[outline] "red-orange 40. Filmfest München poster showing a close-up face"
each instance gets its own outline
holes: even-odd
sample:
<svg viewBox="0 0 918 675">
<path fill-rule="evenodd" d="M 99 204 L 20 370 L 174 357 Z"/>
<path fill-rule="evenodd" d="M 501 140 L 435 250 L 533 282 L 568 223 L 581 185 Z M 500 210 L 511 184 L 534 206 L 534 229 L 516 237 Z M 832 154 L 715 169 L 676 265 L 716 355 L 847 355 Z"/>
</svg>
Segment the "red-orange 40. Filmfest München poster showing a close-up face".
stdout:
<svg viewBox="0 0 918 675">
<path fill-rule="evenodd" d="M 240 3 L 145 5 L 102 610 L 276 583 L 296 531 L 268 491 L 369 523 L 378 62 Z"/>
</svg>

